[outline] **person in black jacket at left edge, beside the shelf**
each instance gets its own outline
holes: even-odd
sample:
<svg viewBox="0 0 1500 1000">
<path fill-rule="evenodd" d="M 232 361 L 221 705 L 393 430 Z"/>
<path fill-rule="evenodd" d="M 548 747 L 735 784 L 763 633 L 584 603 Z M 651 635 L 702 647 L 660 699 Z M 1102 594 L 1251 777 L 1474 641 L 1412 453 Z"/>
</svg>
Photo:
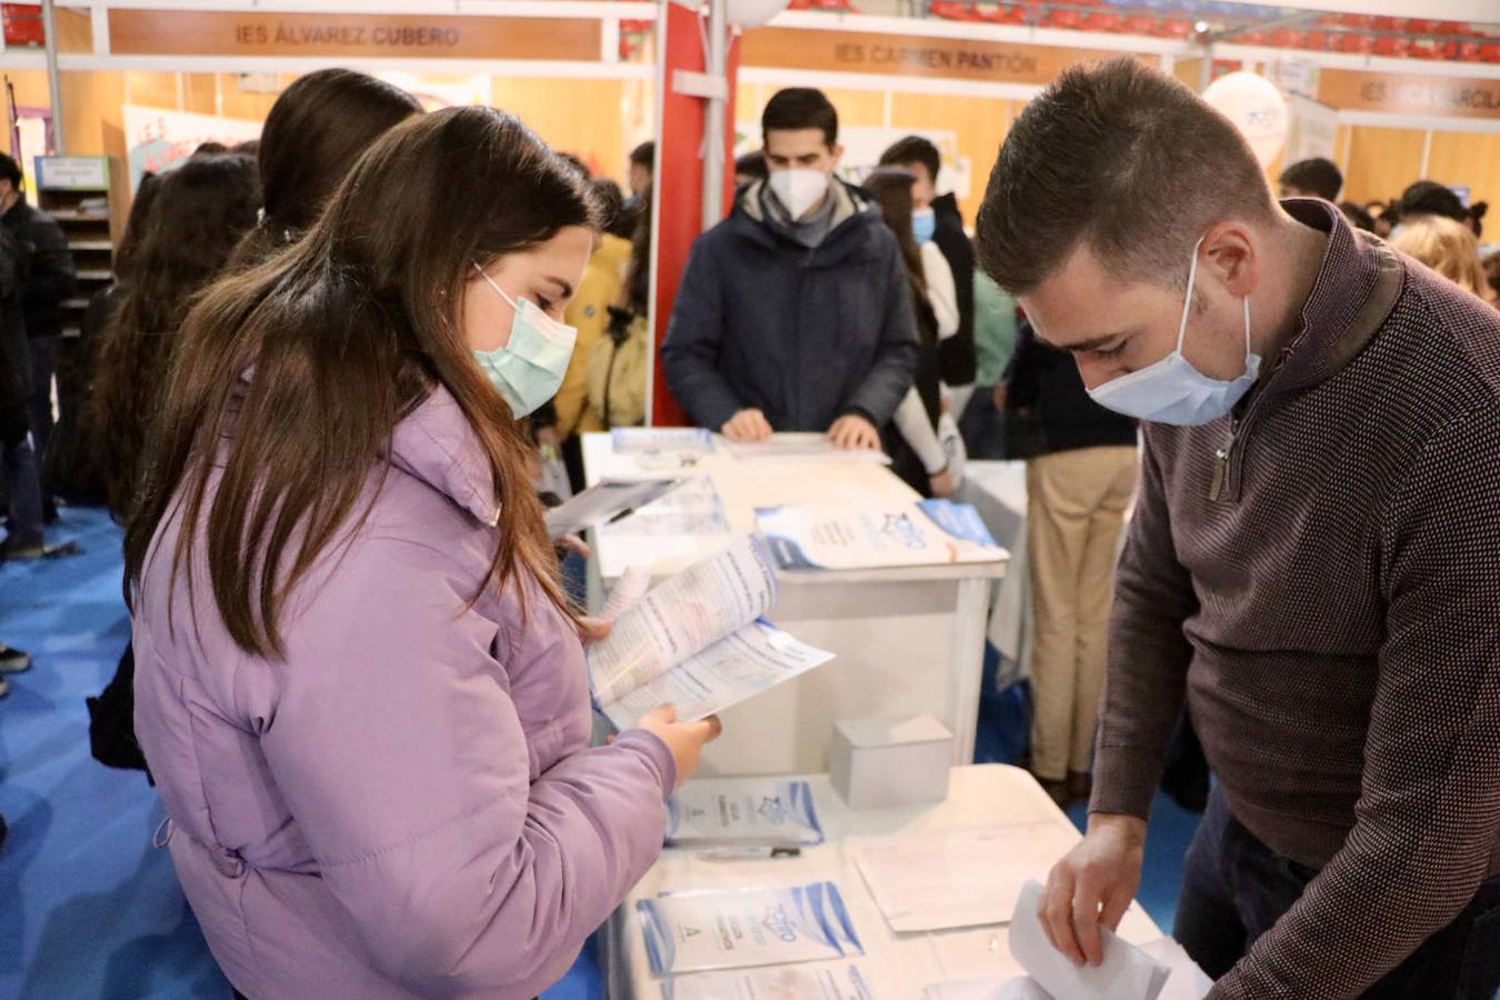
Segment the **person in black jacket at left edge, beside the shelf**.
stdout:
<svg viewBox="0 0 1500 1000">
<path fill-rule="evenodd" d="M 21 312 L 30 352 L 28 411 L 36 460 L 46 460 L 52 435 L 52 375 L 63 343 L 63 300 L 78 288 L 74 255 L 57 219 L 27 204 L 20 165 L 0 153 L 0 223 L 15 237 L 20 253 Z M 42 495 L 48 522 L 57 517 L 52 498 Z"/>
</svg>

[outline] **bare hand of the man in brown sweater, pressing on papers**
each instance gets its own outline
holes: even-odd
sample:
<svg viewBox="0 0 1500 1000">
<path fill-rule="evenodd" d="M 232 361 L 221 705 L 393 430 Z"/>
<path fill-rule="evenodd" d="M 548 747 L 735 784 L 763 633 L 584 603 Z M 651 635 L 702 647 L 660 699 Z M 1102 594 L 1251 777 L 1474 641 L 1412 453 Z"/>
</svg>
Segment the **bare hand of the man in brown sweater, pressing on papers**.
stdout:
<svg viewBox="0 0 1500 1000">
<path fill-rule="evenodd" d="M 1052 868 L 1041 897 L 1047 940 L 1074 964 L 1104 961 L 1100 924 L 1113 930 L 1140 888 L 1146 822 L 1095 813 L 1083 843 Z"/>
</svg>

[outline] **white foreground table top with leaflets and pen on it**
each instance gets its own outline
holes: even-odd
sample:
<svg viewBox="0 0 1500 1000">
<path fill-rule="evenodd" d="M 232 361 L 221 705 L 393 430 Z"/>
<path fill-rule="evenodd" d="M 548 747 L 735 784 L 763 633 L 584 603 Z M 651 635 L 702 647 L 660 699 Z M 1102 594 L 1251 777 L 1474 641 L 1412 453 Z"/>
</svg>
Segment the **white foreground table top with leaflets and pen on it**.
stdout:
<svg viewBox="0 0 1500 1000">
<path fill-rule="evenodd" d="M 662 981 L 651 976 L 645 940 L 634 916 L 638 900 L 687 889 L 790 886 L 834 882 L 849 907 L 849 918 L 866 948 L 860 964 L 876 1000 L 916 1000 L 922 987 L 962 979 L 1011 978 L 1023 970 L 1011 958 L 1004 927 L 986 927 L 932 934 L 894 934 L 870 895 L 860 870 L 846 850 L 850 835 L 921 835 L 996 823 L 1052 820 L 1071 843 L 1078 834 L 1041 786 L 1018 768 L 980 765 L 954 768 L 948 799 L 900 810 L 850 811 L 832 790 L 826 775 L 807 778 L 828 841 L 802 852 L 801 858 L 776 861 L 702 861 L 692 850 L 663 852 L 630 898 L 610 919 L 604 934 L 603 967 L 610 1000 L 658 1000 Z M 1047 873 L 1035 873 L 1046 880 Z M 1120 936 L 1132 945 L 1161 937 L 1161 931 L 1131 904 Z M 828 963 L 846 964 L 849 960 Z"/>
</svg>

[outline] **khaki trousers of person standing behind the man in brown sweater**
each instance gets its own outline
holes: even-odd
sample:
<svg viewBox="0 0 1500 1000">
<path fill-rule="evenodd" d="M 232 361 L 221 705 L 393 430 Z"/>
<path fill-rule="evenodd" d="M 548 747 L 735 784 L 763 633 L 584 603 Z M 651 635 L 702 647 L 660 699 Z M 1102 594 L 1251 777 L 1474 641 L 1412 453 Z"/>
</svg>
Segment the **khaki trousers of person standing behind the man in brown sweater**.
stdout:
<svg viewBox="0 0 1500 1000">
<path fill-rule="evenodd" d="M 1089 771 L 1104 688 L 1114 556 L 1136 490 L 1134 447 L 1082 448 L 1026 463 L 1035 646 L 1032 772 Z"/>
</svg>

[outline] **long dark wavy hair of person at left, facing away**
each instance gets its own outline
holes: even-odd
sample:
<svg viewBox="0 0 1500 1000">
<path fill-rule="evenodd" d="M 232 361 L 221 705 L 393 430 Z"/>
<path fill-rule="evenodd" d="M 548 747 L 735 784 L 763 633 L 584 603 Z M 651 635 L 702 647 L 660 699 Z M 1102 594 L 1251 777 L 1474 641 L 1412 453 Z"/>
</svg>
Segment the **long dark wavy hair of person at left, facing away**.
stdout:
<svg viewBox="0 0 1500 1000">
<path fill-rule="evenodd" d="M 194 156 L 142 183 L 136 199 L 148 202 L 142 210 L 148 214 L 142 220 L 130 213 L 132 244 L 122 249 L 123 298 L 99 345 L 88 403 L 105 495 L 122 519 L 135 501 L 146 426 L 162 396 L 188 306 L 255 225 L 255 160 Z"/>
</svg>

